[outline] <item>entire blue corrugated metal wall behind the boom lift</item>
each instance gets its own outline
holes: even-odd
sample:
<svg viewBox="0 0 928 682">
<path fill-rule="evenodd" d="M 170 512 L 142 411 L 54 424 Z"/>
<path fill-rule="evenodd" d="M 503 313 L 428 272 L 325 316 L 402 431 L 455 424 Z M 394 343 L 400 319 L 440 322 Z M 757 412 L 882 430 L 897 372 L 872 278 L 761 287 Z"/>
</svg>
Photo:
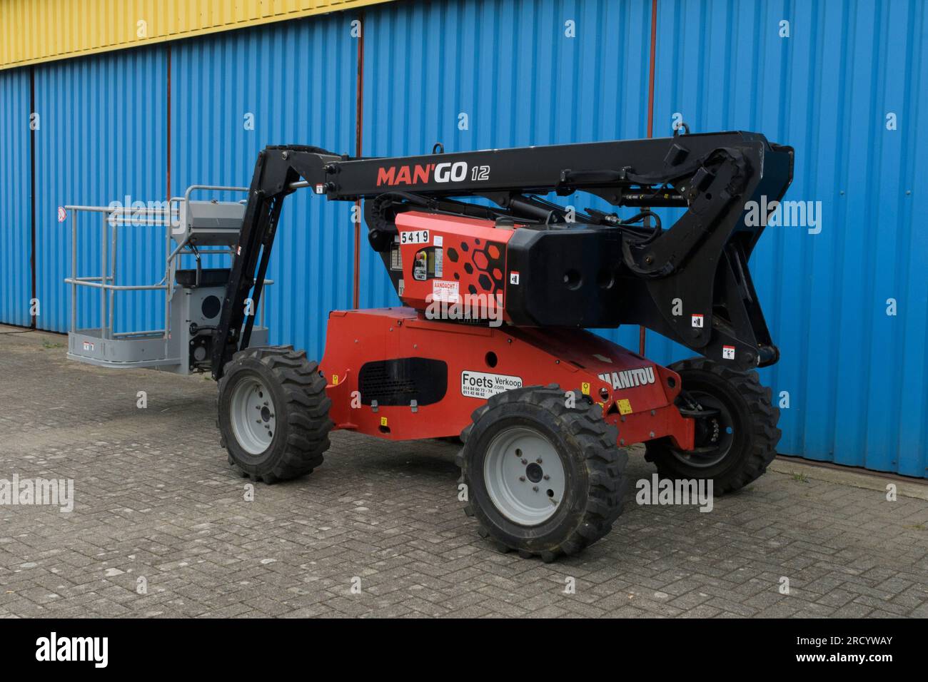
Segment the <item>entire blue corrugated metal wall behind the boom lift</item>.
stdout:
<svg viewBox="0 0 928 682">
<path fill-rule="evenodd" d="M 925 6 L 658 0 L 657 8 L 654 134 L 669 135 L 677 112 L 694 131 L 764 132 L 796 148 L 787 199 L 822 202 L 820 233 L 769 227 L 752 263 L 783 354 L 780 365 L 763 371 L 764 380 L 775 395 L 789 393 L 780 451 L 925 476 L 928 237 L 915 225 L 928 208 L 915 185 L 928 163 L 917 125 L 928 105 Z M 106 203 L 126 193 L 161 199 L 168 170 L 174 194 L 192 182 L 247 185 L 266 143 L 353 152 L 354 18 L 334 14 L 37 67 L 40 326 L 67 326 L 68 291 L 60 280 L 70 255 L 65 228 L 55 220 L 59 204 Z M 782 21 L 789 22 L 789 37 L 780 37 Z M 571 30 L 574 37 L 566 34 Z M 650 33 L 650 0 L 442 0 L 369 8 L 363 151 L 420 153 L 437 141 L 450 151 L 643 136 Z M 4 120 L 15 120 L 10 111 L 22 108 L 21 97 L 28 107 L 23 73 L 0 74 Z M 253 130 L 243 124 L 249 113 Z M 462 113 L 466 129 L 459 126 Z M 896 130 L 887 130 L 889 113 L 896 114 Z M 20 161 L 28 155 L 28 127 L 19 135 L 10 130 L 0 131 L 0 145 L 12 146 L 17 158 L 14 166 L 4 155 L 5 187 L 6 177 L 28 167 L 28 159 Z M 28 183 L 11 187 L 21 204 L 6 202 L 0 211 L 4 243 L 15 246 L 22 234 L 28 241 L 29 198 L 22 194 Z M 326 311 L 350 307 L 350 208 L 300 193 L 286 207 L 270 270 L 282 284 L 269 297 L 275 341 L 318 356 Z M 26 232 L 11 231 L 22 215 Z M 361 304 L 394 303 L 365 241 Z M 161 246 L 151 243 L 137 244 L 123 269 L 127 276 L 160 277 Z M 81 257 L 87 266 L 98 259 L 96 251 Z M 14 260 L 7 270 L 28 272 L 28 257 Z M 22 320 L 21 299 L 5 290 L 0 319 Z M 887 299 L 896 300 L 897 315 L 886 315 Z M 96 302 L 84 305 L 92 318 Z M 152 306 L 125 305 L 120 312 L 133 326 L 159 322 L 148 319 Z M 637 346 L 636 328 L 605 333 Z M 654 334 L 648 352 L 664 362 L 689 354 Z"/>
</svg>

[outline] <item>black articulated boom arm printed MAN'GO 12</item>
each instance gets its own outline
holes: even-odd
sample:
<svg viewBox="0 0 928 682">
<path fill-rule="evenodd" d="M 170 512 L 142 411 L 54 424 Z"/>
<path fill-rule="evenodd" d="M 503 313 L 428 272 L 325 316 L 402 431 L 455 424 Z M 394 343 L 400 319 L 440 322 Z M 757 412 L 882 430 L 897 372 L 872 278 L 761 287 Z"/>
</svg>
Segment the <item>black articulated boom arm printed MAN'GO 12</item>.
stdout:
<svg viewBox="0 0 928 682">
<path fill-rule="evenodd" d="M 393 243 L 396 213 L 410 210 L 496 220 L 519 226 L 517 232 L 567 230 L 576 243 L 587 240 L 582 252 L 592 239 L 600 258 L 608 252 L 615 261 L 621 291 L 602 299 L 609 315 L 574 326 L 641 325 L 736 367 L 772 364 L 779 352 L 747 266 L 767 216 L 746 221 L 745 212 L 752 200 L 772 212 L 792 179 L 793 148 L 744 132 L 370 159 L 315 147 L 265 148 L 214 332 L 213 377 L 248 346 L 283 199 L 299 187 L 333 200 L 365 199 L 368 238 L 381 252 Z M 593 209 L 567 212 L 536 196 L 574 192 L 643 210 L 623 220 Z M 496 206 L 456 200 L 468 197 Z M 650 211 L 659 207 L 686 211 L 662 229 Z M 535 260 L 521 266 L 545 266 Z M 556 315 L 550 319 L 557 324 Z M 518 324 L 549 322 L 526 315 Z"/>
</svg>

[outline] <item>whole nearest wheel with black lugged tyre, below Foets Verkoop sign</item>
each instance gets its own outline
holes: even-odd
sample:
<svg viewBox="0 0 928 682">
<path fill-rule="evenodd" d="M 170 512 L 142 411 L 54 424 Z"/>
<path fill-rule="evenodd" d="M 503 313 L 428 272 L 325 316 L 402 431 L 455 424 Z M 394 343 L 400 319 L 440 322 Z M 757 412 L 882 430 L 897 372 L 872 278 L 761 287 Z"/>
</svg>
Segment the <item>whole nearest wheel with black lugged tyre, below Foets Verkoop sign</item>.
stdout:
<svg viewBox="0 0 928 682">
<path fill-rule="evenodd" d="M 624 450 L 599 405 L 557 386 L 499 393 L 473 413 L 458 455 L 479 533 L 523 557 L 574 554 L 622 511 Z"/>
</svg>

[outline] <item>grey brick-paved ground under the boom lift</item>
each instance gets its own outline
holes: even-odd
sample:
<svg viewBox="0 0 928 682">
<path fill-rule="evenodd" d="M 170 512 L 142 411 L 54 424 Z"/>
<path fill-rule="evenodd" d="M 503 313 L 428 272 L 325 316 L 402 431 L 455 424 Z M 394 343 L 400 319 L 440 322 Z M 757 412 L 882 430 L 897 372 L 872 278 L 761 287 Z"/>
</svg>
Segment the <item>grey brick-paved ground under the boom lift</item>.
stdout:
<svg viewBox="0 0 928 682">
<path fill-rule="evenodd" d="M 632 501 L 581 556 L 521 560 L 458 507 L 453 445 L 336 433 L 311 476 L 245 501 L 212 381 L 70 363 L 65 341 L 0 335 L 0 478 L 75 482 L 70 514 L 0 507 L 0 615 L 928 616 L 921 499 L 771 471 L 710 513 Z"/>
</svg>

